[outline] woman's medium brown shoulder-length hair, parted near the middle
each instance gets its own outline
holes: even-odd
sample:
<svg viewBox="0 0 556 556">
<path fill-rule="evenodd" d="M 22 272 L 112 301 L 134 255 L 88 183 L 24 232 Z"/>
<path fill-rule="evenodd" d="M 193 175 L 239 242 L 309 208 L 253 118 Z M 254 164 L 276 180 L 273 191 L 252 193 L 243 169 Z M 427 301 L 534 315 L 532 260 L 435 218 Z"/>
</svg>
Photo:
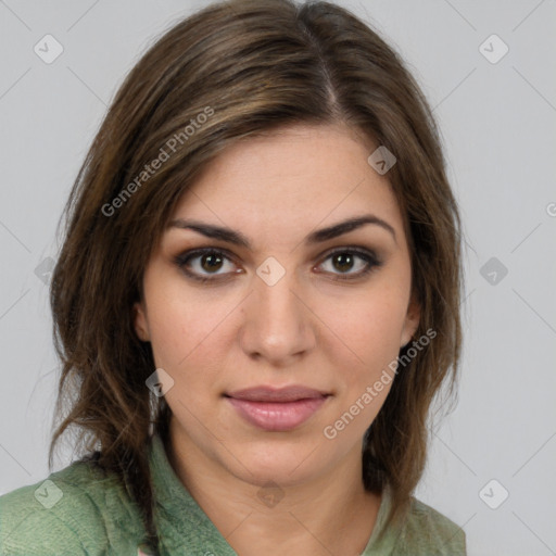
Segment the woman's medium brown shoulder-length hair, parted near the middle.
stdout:
<svg viewBox="0 0 556 556">
<path fill-rule="evenodd" d="M 62 372 L 49 465 L 59 438 L 75 427 L 76 445 L 88 452 L 83 460 L 117 476 L 154 544 L 148 447 L 153 432 L 167 434 L 170 410 L 146 387 L 155 364 L 134 330 L 144 268 L 178 200 L 223 149 L 299 123 L 346 125 L 396 156 L 387 177 L 404 216 L 421 308 L 415 336 L 437 332 L 400 367 L 364 439 L 362 479 L 369 491 L 391 489 L 389 519 L 403 518 L 421 477 L 431 402 L 445 379 L 453 391 L 460 224 L 416 81 L 376 31 L 332 3 L 208 5 L 157 39 L 117 91 L 64 208 L 50 292 Z M 143 175 L 161 149 L 170 155 Z"/>
</svg>

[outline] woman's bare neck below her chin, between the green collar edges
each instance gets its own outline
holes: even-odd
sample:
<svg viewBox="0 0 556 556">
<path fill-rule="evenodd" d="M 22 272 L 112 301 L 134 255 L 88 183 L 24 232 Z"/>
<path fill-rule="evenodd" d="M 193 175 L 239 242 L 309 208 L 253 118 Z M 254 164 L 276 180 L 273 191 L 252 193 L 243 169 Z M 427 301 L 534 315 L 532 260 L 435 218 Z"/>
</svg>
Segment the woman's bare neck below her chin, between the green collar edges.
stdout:
<svg viewBox="0 0 556 556">
<path fill-rule="evenodd" d="M 381 496 L 364 489 L 359 445 L 333 470 L 290 485 L 248 482 L 227 472 L 174 427 L 168 448 L 177 477 L 236 553 L 364 552 Z"/>
</svg>

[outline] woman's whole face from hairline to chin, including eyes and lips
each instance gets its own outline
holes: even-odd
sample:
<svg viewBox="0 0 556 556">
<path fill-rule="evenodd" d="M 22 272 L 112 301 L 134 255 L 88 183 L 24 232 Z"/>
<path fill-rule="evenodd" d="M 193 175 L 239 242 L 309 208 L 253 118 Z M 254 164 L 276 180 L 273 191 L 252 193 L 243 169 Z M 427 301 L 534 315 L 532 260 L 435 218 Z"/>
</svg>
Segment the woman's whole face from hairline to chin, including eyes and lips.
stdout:
<svg viewBox="0 0 556 556">
<path fill-rule="evenodd" d="M 184 194 L 135 320 L 173 380 L 175 450 L 253 484 L 361 462 L 418 324 L 377 147 L 294 126 L 229 148 Z"/>
</svg>

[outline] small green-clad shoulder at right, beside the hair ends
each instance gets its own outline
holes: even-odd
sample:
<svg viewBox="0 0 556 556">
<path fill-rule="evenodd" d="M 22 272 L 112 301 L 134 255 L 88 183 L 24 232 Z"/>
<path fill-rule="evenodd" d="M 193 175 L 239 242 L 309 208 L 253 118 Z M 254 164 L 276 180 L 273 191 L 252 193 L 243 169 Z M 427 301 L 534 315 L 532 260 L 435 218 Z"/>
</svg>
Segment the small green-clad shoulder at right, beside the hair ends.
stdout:
<svg viewBox="0 0 556 556">
<path fill-rule="evenodd" d="M 465 556 L 465 532 L 446 516 L 414 497 L 396 548 L 401 554 Z"/>
</svg>

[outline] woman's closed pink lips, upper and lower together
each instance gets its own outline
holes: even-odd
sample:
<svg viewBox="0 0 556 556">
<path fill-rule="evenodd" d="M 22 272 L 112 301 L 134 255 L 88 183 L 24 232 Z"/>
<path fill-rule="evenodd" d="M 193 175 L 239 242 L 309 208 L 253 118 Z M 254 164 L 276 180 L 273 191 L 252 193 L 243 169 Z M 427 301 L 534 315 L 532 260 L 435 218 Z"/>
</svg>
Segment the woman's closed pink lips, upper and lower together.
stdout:
<svg viewBox="0 0 556 556">
<path fill-rule="evenodd" d="M 329 394 L 305 387 L 257 387 L 226 394 L 251 425 L 267 431 L 292 430 L 305 422 Z"/>
</svg>

